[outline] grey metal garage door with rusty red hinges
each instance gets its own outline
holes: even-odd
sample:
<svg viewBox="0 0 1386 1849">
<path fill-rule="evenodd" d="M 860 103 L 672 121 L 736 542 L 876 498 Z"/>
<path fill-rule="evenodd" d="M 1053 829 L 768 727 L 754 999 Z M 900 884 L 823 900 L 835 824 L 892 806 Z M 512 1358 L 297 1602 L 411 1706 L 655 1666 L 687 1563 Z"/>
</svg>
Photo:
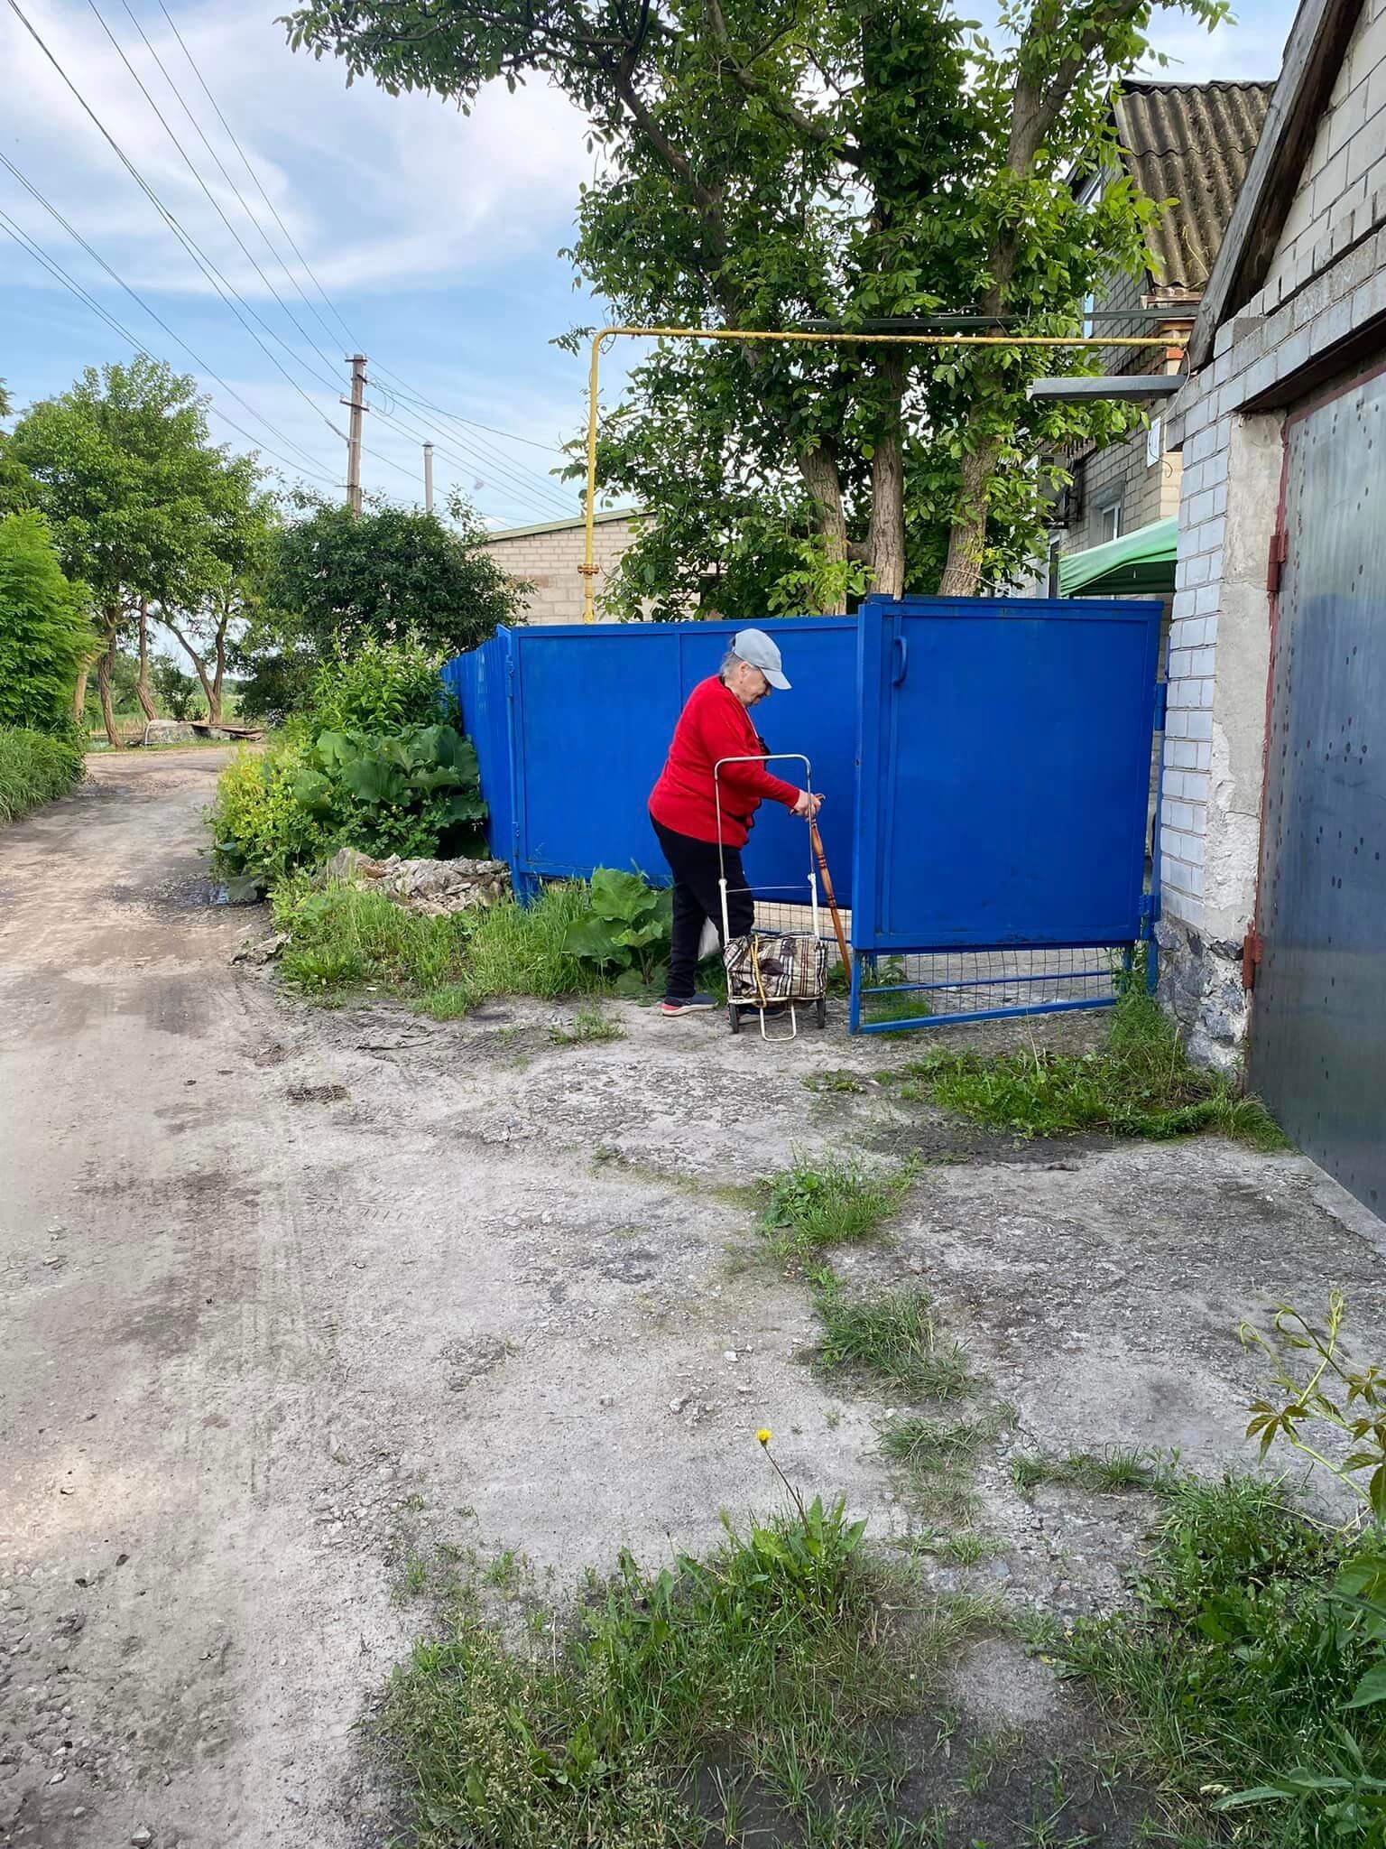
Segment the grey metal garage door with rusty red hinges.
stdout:
<svg viewBox="0 0 1386 1849">
<path fill-rule="evenodd" d="M 1286 425 L 1251 1082 L 1386 1211 L 1386 375 Z"/>
</svg>

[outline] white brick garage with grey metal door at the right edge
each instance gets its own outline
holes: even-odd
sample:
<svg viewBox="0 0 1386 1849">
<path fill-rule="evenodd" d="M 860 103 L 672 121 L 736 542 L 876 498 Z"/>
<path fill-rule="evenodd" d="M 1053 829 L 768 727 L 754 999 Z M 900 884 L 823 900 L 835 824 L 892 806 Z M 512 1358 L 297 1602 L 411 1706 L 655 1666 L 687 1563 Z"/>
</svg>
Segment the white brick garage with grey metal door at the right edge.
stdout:
<svg viewBox="0 0 1386 1849">
<path fill-rule="evenodd" d="M 1382 1211 L 1386 0 L 1303 0 L 1188 368 L 1162 995 Z"/>
</svg>

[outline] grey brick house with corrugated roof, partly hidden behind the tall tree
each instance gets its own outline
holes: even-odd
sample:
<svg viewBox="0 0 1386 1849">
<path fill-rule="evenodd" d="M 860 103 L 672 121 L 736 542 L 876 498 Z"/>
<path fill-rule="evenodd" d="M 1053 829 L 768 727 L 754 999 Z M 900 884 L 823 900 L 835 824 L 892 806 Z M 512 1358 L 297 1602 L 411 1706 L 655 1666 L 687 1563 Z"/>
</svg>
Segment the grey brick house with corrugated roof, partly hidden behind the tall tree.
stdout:
<svg viewBox="0 0 1386 1849">
<path fill-rule="evenodd" d="M 1112 335 L 1186 337 L 1194 325 L 1209 272 L 1218 255 L 1236 194 L 1246 178 L 1271 83 L 1129 83 L 1112 102 L 1112 128 L 1122 144 L 1122 174 L 1151 200 L 1170 200 L 1148 233 L 1149 261 L 1135 277 L 1116 277 L 1092 298 L 1090 307 L 1107 314 L 1146 311 L 1138 318 L 1094 322 L 1090 331 Z M 1088 183 L 1100 192 L 1118 174 L 1103 172 Z M 1159 316 L 1159 320 L 1151 318 Z M 1109 373 L 1173 370 L 1159 348 L 1112 348 Z M 1164 444 L 1162 407 L 1153 407 L 1149 429 L 1118 444 L 1077 451 L 1070 459 L 1074 484 L 1059 507 L 1053 551 L 1059 558 L 1109 544 L 1179 510 L 1179 457 Z M 1172 542 L 1172 534 L 1170 534 Z M 1173 594 L 1173 544 L 1168 582 Z M 1059 566 L 1057 588 L 1087 573 Z M 1122 588 L 1100 579 L 1083 586 Z M 1142 588 L 1149 588 L 1148 584 Z"/>
</svg>

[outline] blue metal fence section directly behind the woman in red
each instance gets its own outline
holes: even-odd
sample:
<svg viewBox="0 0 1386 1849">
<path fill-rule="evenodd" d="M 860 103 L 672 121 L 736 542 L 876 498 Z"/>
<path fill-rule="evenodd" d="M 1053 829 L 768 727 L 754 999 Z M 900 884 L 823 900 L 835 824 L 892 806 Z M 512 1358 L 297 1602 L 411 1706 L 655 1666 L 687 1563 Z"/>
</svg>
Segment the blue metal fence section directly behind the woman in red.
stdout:
<svg viewBox="0 0 1386 1849">
<path fill-rule="evenodd" d="M 667 878 L 647 801 L 684 701 L 715 675 L 745 623 L 554 623 L 501 631 L 449 662 L 492 806 L 492 852 L 517 880 L 636 865 Z M 821 832 L 846 902 L 856 815 L 854 618 L 776 618 L 763 627 L 784 655 L 791 690 L 752 719 L 771 751 L 802 751 L 826 801 Z M 501 649 L 497 651 L 497 645 Z M 495 653 L 488 653 L 495 651 Z M 506 651 L 506 653 L 501 653 Z M 508 732 L 497 723 L 508 703 Z M 473 719 L 475 716 L 475 719 Z M 796 782 L 793 765 L 780 765 Z M 506 801 L 508 799 L 508 801 Z M 761 804 L 747 849 L 756 891 L 808 893 L 808 834 Z"/>
</svg>

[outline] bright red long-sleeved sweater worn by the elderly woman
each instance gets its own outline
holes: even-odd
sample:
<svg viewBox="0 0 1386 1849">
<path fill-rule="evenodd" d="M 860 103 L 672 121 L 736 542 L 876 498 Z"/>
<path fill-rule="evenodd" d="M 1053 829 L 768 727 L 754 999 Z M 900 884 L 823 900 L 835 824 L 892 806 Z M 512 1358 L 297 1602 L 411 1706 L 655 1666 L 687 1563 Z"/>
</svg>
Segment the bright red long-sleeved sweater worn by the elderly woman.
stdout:
<svg viewBox="0 0 1386 1849">
<path fill-rule="evenodd" d="M 717 675 L 699 680 L 678 716 L 669 756 L 660 780 L 650 790 L 650 815 L 691 834 L 695 841 L 717 839 L 717 799 L 711 767 L 719 758 L 765 756 L 765 740 L 750 723 L 750 714 Z M 771 777 L 761 764 L 724 764 L 717 778 L 723 806 L 723 841 L 745 847 L 750 817 L 761 801 L 793 808 L 798 790 L 782 777 Z"/>
</svg>

